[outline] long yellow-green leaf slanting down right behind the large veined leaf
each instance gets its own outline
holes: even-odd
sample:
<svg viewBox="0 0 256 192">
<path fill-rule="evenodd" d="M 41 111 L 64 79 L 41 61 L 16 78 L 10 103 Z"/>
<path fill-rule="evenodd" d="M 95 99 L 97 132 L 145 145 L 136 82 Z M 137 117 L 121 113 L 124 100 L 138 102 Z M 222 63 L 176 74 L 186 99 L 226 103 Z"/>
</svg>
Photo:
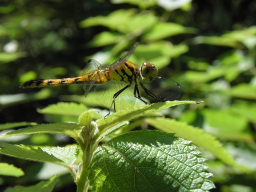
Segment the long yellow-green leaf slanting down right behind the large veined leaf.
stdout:
<svg viewBox="0 0 256 192">
<path fill-rule="evenodd" d="M 210 151 L 215 157 L 221 159 L 221 161 L 228 165 L 239 167 L 225 148 L 222 147 L 222 144 L 201 129 L 167 118 L 147 118 L 146 123 L 161 131 L 175 133 L 178 137 L 193 141 L 195 145 Z"/>
</svg>

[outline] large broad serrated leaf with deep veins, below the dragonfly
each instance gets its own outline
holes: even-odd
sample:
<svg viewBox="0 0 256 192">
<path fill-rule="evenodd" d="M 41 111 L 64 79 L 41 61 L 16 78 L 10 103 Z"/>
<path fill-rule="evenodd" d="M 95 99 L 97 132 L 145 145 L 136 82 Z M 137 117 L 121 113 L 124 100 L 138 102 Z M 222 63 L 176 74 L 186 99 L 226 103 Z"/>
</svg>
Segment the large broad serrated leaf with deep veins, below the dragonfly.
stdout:
<svg viewBox="0 0 256 192">
<path fill-rule="evenodd" d="M 94 191 L 205 191 L 209 181 L 197 147 L 160 131 L 134 131 L 98 147 L 89 174 Z"/>
</svg>

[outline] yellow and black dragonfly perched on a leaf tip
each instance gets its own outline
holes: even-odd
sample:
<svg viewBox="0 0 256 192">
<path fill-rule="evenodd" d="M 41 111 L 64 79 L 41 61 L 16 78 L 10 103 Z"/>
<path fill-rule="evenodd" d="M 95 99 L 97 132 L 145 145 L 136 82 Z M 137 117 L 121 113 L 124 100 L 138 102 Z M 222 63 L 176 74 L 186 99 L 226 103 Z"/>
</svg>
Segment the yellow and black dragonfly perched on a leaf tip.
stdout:
<svg viewBox="0 0 256 192">
<path fill-rule="evenodd" d="M 181 95 L 179 84 L 171 79 L 159 77 L 158 69 L 155 65 L 143 62 L 141 66 L 136 66 L 127 61 L 137 45 L 138 42 L 135 43 L 128 53 L 124 54 L 110 66 L 103 66 L 94 59 L 90 59 L 87 65 L 96 66 L 97 69 L 91 70 L 85 75 L 73 78 L 30 80 L 22 83 L 19 87 L 26 89 L 83 83 L 85 97 L 92 87 L 95 87 L 95 98 L 103 106 L 110 107 L 107 115 L 110 114 L 113 108 L 114 111 L 122 109 L 124 98 L 128 100 L 130 106 L 133 106 L 135 99 L 131 99 L 131 95 L 133 95 L 132 98 L 136 98 L 146 105 L 151 105 L 150 102 L 178 99 Z M 110 93 L 112 98 L 107 99 Z M 122 97 L 119 97 L 120 95 Z"/>
</svg>

